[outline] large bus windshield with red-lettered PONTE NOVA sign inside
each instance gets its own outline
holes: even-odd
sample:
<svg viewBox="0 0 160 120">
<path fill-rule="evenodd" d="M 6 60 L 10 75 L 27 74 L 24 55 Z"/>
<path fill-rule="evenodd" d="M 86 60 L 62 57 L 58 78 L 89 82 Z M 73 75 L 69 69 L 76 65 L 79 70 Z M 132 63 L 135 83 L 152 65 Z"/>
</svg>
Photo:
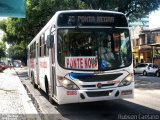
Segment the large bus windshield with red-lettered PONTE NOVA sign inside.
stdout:
<svg viewBox="0 0 160 120">
<path fill-rule="evenodd" d="M 129 30 L 58 29 L 58 63 L 65 69 L 113 70 L 132 63 Z"/>
</svg>

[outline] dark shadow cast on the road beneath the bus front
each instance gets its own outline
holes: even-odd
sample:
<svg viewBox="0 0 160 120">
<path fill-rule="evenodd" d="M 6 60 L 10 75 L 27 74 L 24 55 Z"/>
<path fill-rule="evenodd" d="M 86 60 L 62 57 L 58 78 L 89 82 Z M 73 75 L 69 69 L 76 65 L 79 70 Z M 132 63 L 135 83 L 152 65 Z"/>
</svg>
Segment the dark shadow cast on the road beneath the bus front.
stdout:
<svg viewBox="0 0 160 120">
<path fill-rule="evenodd" d="M 140 116 L 160 115 L 159 111 L 125 100 L 67 104 L 55 108 L 61 116 L 69 120 L 118 120 L 125 115 L 132 115 L 140 120 L 138 118 Z M 48 117 L 53 118 L 53 116 L 55 117 L 55 114 L 50 114 Z"/>
</svg>

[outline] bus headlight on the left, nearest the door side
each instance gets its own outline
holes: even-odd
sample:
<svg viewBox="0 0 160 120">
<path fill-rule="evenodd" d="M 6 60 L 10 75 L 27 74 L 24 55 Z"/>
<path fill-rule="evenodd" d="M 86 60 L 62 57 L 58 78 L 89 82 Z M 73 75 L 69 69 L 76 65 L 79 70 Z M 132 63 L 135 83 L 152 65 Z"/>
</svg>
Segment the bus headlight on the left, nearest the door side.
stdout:
<svg viewBox="0 0 160 120">
<path fill-rule="evenodd" d="M 79 90 L 79 87 L 72 81 L 63 78 L 60 81 L 60 84 L 68 90 Z"/>
</svg>

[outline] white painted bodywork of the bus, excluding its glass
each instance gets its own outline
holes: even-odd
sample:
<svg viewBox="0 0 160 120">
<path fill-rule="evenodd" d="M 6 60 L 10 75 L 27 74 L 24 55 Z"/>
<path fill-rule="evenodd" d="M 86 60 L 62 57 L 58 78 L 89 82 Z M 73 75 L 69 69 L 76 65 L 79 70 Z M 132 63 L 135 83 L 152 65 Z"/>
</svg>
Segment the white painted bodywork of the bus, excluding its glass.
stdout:
<svg viewBox="0 0 160 120">
<path fill-rule="evenodd" d="M 45 44 L 47 42 L 47 37 L 48 35 L 51 34 L 51 31 L 53 30 L 53 35 L 54 35 L 54 43 L 53 46 L 54 48 L 49 48 L 49 56 L 44 56 L 44 57 L 39 57 L 39 55 L 36 55 L 38 64 L 36 63 L 36 58 L 34 58 L 34 66 L 37 66 L 39 72 L 36 71 L 36 68 L 32 68 L 29 65 L 29 71 L 33 72 L 34 77 L 35 77 L 35 83 L 39 84 L 40 88 L 46 91 L 46 80 L 49 84 L 49 87 L 51 88 L 51 97 L 56 100 L 58 104 L 67 104 L 67 103 L 77 103 L 77 102 L 91 102 L 91 101 L 103 101 L 103 100 L 112 100 L 112 99 L 123 99 L 123 98 L 132 98 L 134 91 L 134 78 L 132 80 L 132 83 L 127 86 L 119 87 L 119 83 L 125 79 L 129 74 L 133 74 L 133 63 L 131 63 L 127 67 L 123 68 L 117 68 L 113 70 L 78 70 L 78 69 L 68 69 L 65 68 L 64 66 L 60 65 L 59 63 L 59 58 L 58 58 L 58 44 L 60 40 L 60 32 L 63 31 L 58 31 L 58 30 L 63 30 L 66 29 L 72 30 L 74 26 L 58 26 L 58 17 L 64 13 L 86 13 L 86 12 L 91 12 L 91 13 L 110 13 L 110 14 L 115 14 L 115 15 L 123 15 L 122 13 L 119 12 L 110 12 L 110 11 L 101 11 L 101 10 L 68 10 L 68 11 L 59 11 L 56 12 L 55 15 L 51 18 L 51 20 L 45 25 L 45 27 L 37 34 L 37 36 L 30 42 L 28 45 L 28 48 L 30 49 L 31 46 L 36 43 L 39 43 L 40 37 L 44 34 L 45 35 Z M 89 20 L 90 21 L 90 20 Z M 112 26 L 110 26 L 112 27 Z M 115 27 L 115 26 L 114 26 Z M 53 28 L 53 29 L 52 29 Z M 106 28 L 106 26 L 82 26 L 81 28 L 84 29 L 101 29 L 101 28 Z M 76 30 L 80 30 L 81 28 L 78 28 Z M 128 29 L 128 26 L 124 27 L 125 29 Z M 74 28 L 75 29 L 75 28 Z M 73 30 L 74 30 L 73 29 Z M 107 28 L 108 29 L 108 28 Z M 114 28 L 116 29 L 122 29 L 122 28 Z M 87 31 L 87 30 L 86 30 Z M 74 33 L 74 32 L 73 32 Z M 76 33 L 76 32 L 75 32 Z M 72 34 L 71 34 L 72 35 Z M 86 34 L 87 35 L 87 34 Z M 36 44 L 38 45 L 38 44 Z M 39 47 L 39 46 L 38 46 Z M 36 47 L 37 53 L 39 54 L 39 48 Z M 52 51 L 53 50 L 53 51 Z M 52 52 L 51 52 L 52 51 Z M 84 57 L 84 56 L 82 56 Z M 31 61 L 32 58 L 28 58 L 28 61 Z M 54 60 L 54 61 L 52 61 Z M 125 61 L 124 61 L 125 62 Z M 29 62 L 30 64 L 30 62 Z M 94 74 L 94 75 L 110 75 L 110 74 L 119 74 L 122 73 L 119 77 L 116 79 L 113 79 L 111 81 L 116 81 L 113 86 L 106 86 L 102 88 L 97 88 L 97 84 L 108 84 L 108 81 L 79 81 L 79 80 L 73 80 L 70 79 L 70 81 L 74 82 L 78 87 L 79 90 L 68 90 L 65 87 L 62 86 L 60 83 L 58 77 L 63 77 L 65 78 L 68 74 L 70 73 L 84 73 L 84 74 Z M 38 76 L 37 76 L 38 74 Z M 31 77 L 31 73 L 29 73 Z M 39 78 L 39 79 L 38 79 Z M 39 83 L 38 83 L 39 80 Z M 94 87 L 90 88 L 84 88 L 82 86 L 89 86 L 89 85 L 94 85 Z M 104 92 L 106 91 L 106 96 L 103 96 Z M 89 97 L 87 95 L 87 92 L 89 95 L 95 95 L 95 94 L 102 94 L 102 96 L 94 96 L 94 97 Z M 93 93 L 92 93 L 93 92 Z M 97 93 L 96 93 L 97 92 Z M 118 94 L 118 95 L 116 95 Z M 84 98 L 83 98 L 84 97 Z"/>
</svg>

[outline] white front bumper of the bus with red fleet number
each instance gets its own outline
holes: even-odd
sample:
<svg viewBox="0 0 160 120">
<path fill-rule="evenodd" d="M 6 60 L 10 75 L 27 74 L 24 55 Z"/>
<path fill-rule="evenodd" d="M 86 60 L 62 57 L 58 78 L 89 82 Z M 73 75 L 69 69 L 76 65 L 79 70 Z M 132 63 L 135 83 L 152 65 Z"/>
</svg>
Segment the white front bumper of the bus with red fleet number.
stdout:
<svg viewBox="0 0 160 120">
<path fill-rule="evenodd" d="M 128 91 L 130 87 L 133 87 L 134 83 L 125 88 L 108 88 L 108 89 L 96 89 L 96 90 L 67 90 L 63 87 L 57 87 L 58 91 L 58 104 L 67 104 L 67 103 L 78 103 L 78 102 L 94 102 L 94 101 L 105 101 L 105 100 L 114 100 L 114 99 L 123 99 L 123 98 L 133 98 L 132 94 L 121 95 L 122 91 Z M 107 91 L 113 92 L 110 95 L 107 95 Z M 102 97 L 88 97 L 86 92 L 106 92 L 106 96 Z M 119 95 L 115 96 L 116 92 L 119 91 Z M 84 95 L 84 99 L 80 97 L 80 94 Z"/>
</svg>

